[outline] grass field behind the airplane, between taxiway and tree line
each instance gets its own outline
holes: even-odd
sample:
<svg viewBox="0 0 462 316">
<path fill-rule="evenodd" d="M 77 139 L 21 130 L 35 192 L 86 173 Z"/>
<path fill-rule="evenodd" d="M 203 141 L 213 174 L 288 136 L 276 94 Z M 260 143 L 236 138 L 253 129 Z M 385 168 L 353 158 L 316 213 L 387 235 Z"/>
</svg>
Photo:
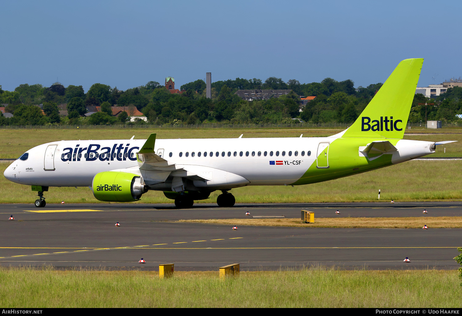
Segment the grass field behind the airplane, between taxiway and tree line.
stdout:
<svg viewBox="0 0 462 316">
<path fill-rule="evenodd" d="M 430 130 L 412 130 L 413 135 L 405 138 L 414 140 L 459 140 L 457 143 L 438 146 L 438 152 L 431 157 L 461 157 L 462 129 L 447 129 L 446 134 L 428 134 Z M 435 130 L 432 130 L 433 132 Z M 438 130 L 441 131 L 441 130 Z M 117 139 L 147 138 L 151 132 L 140 129 L 3 129 L 0 143 L 1 158 L 19 157 L 33 146 L 53 140 L 71 139 Z M 298 137 L 328 136 L 340 132 L 334 129 L 161 129 L 155 131 L 158 138 L 222 138 L 222 137 Z M 417 132 L 424 132 L 425 135 Z M 57 135 L 59 134 L 59 135 Z M 446 146 L 446 147 L 444 147 Z M 446 153 L 441 152 L 446 148 Z M 0 164 L 0 172 L 8 164 Z M 378 190 L 381 189 L 381 200 L 395 201 L 435 201 L 462 199 L 462 161 L 409 161 L 387 168 L 373 170 L 363 174 L 349 176 L 328 182 L 314 183 L 304 186 L 249 186 L 232 189 L 236 201 L 244 203 L 278 203 L 278 202 L 350 202 L 377 201 Z M 210 199 L 201 202 L 215 203 L 220 191 L 211 194 Z M 100 203 L 89 188 L 50 188 L 45 193 L 47 203 Z M 35 193 L 30 187 L 16 184 L 0 177 L 0 203 L 33 203 Z M 140 203 L 172 203 L 162 192 L 149 191 L 144 194 Z"/>
</svg>

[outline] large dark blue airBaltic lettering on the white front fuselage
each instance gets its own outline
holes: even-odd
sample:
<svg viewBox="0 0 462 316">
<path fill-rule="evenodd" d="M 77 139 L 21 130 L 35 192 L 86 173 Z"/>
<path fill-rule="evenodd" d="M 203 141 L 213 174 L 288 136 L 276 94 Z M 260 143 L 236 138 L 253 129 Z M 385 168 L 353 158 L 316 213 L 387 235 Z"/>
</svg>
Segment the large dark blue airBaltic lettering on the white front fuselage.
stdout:
<svg viewBox="0 0 462 316">
<path fill-rule="evenodd" d="M 118 146 L 117 146 L 118 145 Z M 67 147 L 64 148 L 61 154 L 62 161 L 95 161 L 97 159 L 101 161 L 113 161 L 113 160 L 133 160 L 136 161 L 135 153 L 140 147 L 134 146 L 129 147 L 130 144 L 124 146 L 123 144 L 114 144 L 111 147 L 102 147 L 98 144 L 90 144 L 88 147 L 79 147 L 77 144 L 75 148 Z M 101 148 L 101 149 L 100 149 Z M 99 151 L 99 152 L 98 152 Z M 133 156 L 133 157 L 132 157 Z"/>
</svg>

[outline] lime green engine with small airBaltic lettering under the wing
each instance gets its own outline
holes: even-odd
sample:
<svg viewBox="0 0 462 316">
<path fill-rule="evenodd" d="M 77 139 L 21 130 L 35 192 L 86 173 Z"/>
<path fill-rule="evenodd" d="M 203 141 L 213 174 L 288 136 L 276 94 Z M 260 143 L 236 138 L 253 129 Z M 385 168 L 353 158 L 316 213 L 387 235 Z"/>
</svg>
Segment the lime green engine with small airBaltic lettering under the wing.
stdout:
<svg viewBox="0 0 462 316">
<path fill-rule="evenodd" d="M 141 183 L 140 176 L 119 171 L 97 173 L 91 189 L 97 200 L 105 202 L 137 201 L 148 191 L 148 187 Z"/>
</svg>

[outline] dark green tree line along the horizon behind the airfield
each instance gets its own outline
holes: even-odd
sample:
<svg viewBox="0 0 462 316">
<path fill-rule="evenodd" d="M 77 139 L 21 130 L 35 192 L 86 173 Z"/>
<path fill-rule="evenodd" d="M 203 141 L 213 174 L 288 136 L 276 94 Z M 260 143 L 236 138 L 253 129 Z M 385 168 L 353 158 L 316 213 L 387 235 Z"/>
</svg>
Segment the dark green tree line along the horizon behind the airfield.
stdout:
<svg viewBox="0 0 462 316">
<path fill-rule="evenodd" d="M 201 123 L 351 123 L 354 122 L 382 83 L 354 88 L 350 79 L 337 81 L 326 78 L 321 82 L 300 84 L 281 78 L 228 79 L 212 83 L 212 98 L 206 98 L 206 83 L 202 79 L 182 85 L 183 93 L 170 93 L 156 81 L 120 91 L 117 87 L 96 83 L 85 93 L 82 85 L 64 87 L 55 83 L 50 87 L 23 84 L 14 91 L 3 91 L 0 85 L 0 103 L 6 103 L 5 111 L 12 118 L 0 116 L 0 125 L 45 124 L 117 124 L 127 123 L 128 114 L 112 116 L 111 106 L 138 109 L 154 124 Z M 268 100 L 245 101 L 234 94 L 237 90 L 291 90 L 287 95 Z M 300 112 L 300 96 L 315 96 Z M 61 117 L 58 105 L 67 103 L 68 115 Z M 425 105 L 427 103 L 427 105 Z M 433 104 L 430 104 L 433 103 Z M 42 110 L 33 104 L 43 104 Z M 101 112 L 85 117 L 86 108 L 101 106 Z M 416 94 L 409 121 L 456 121 L 462 113 L 462 88 L 448 88 L 437 99 Z M 296 120 L 293 120 L 296 119 Z M 297 120 L 299 119 L 299 120 Z M 144 121 L 136 122 L 143 124 Z"/>
</svg>

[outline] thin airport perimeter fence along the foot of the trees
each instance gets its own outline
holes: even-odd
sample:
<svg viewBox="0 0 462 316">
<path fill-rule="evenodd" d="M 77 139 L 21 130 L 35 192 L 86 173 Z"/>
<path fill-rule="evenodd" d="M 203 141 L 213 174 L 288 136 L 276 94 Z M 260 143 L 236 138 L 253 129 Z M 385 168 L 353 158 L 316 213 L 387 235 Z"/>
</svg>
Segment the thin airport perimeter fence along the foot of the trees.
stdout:
<svg viewBox="0 0 462 316">
<path fill-rule="evenodd" d="M 441 122 L 442 128 L 461 127 L 457 122 Z M 325 128 L 325 129 L 346 129 L 352 123 L 296 123 L 296 124 L 112 124 L 112 125 L 5 125 L 0 126 L 5 129 L 101 129 L 101 128 L 139 128 L 139 129 L 162 129 L 162 128 Z M 426 128 L 424 123 L 407 123 L 406 130 Z"/>
</svg>

